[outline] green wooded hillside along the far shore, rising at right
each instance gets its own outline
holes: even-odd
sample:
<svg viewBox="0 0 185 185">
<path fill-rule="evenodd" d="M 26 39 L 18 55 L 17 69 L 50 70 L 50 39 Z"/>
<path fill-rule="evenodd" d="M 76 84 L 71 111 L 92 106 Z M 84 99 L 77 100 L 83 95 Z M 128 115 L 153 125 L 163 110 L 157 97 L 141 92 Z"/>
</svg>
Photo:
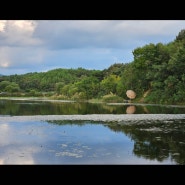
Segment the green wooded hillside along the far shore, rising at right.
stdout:
<svg viewBox="0 0 185 185">
<path fill-rule="evenodd" d="M 54 69 L 0 77 L 0 96 L 53 96 L 60 99 L 103 99 L 122 102 L 126 91 L 146 103 L 185 103 L 185 30 L 174 41 L 133 50 L 130 63 L 104 70 Z"/>
</svg>

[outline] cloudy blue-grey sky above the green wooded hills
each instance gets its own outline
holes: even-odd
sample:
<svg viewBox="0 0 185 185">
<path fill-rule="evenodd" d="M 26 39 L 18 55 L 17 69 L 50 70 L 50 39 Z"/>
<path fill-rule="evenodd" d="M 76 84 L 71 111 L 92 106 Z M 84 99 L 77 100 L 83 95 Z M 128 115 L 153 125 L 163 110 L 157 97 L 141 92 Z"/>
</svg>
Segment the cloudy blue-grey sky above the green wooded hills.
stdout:
<svg viewBox="0 0 185 185">
<path fill-rule="evenodd" d="M 0 74 L 57 68 L 103 70 L 133 61 L 147 44 L 168 44 L 185 20 L 0 20 Z"/>
</svg>

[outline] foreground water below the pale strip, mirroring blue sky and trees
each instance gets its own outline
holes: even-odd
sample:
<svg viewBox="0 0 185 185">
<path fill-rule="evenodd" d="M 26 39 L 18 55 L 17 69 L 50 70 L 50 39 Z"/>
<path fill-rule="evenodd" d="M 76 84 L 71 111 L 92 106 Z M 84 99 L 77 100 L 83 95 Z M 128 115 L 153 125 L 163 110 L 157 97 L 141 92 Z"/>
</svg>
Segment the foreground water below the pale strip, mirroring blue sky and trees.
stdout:
<svg viewBox="0 0 185 185">
<path fill-rule="evenodd" d="M 7 122 L 1 164 L 185 164 L 185 120 Z"/>
</svg>

